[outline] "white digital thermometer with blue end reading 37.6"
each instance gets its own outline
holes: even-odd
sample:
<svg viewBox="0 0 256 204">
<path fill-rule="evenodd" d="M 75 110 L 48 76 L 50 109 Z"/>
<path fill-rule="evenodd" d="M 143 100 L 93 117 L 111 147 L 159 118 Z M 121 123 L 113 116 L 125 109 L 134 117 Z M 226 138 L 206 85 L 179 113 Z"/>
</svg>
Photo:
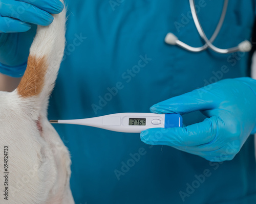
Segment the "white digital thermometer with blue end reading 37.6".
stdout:
<svg viewBox="0 0 256 204">
<path fill-rule="evenodd" d="M 122 133 L 140 133 L 146 129 L 156 127 L 182 127 L 181 115 L 155 113 L 116 113 L 94 118 L 50 120 L 50 122 L 87 125 Z"/>
</svg>

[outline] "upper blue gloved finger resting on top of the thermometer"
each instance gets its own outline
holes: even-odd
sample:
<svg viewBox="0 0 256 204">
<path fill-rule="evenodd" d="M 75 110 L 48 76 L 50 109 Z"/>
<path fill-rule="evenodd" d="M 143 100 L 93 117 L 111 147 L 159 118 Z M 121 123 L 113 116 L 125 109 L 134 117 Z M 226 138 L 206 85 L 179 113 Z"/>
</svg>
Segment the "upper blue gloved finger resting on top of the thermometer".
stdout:
<svg viewBox="0 0 256 204">
<path fill-rule="evenodd" d="M 206 90 L 200 89 L 169 98 L 152 106 L 150 111 L 160 114 L 178 113 L 182 115 L 198 110 L 213 109 L 215 107 L 214 97 L 205 97 L 202 93 L 206 92 Z"/>
</svg>

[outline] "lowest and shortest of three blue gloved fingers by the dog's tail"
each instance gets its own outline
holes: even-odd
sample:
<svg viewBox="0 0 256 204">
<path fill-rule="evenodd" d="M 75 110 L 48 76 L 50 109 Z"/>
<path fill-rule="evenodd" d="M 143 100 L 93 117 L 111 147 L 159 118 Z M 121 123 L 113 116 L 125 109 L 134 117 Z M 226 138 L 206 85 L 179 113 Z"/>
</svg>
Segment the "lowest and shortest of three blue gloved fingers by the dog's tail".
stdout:
<svg viewBox="0 0 256 204">
<path fill-rule="evenodd" d="M 31 24 L 23 21 L 0 16 L 0 33 L 20 33 L 31 29 Z"/>
</svg>

